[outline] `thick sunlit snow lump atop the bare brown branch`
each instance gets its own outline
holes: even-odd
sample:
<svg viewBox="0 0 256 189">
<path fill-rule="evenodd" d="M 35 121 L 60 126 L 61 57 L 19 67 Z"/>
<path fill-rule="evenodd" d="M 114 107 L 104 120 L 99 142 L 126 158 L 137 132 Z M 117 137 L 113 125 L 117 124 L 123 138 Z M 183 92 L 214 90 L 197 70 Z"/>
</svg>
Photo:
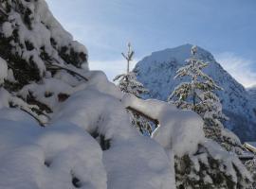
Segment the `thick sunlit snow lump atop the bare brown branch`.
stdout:
<svg viewBox="0 0 256 189">
<path fill-rule="evenodd" d="M 153 138 L 164 148 L 173 149 L 176 156 L 193 154 L 198 144 L 205 140 L 203 121 L 194 112 L 180 111 L 174 105 L 163 101 L 142 100 L 131 94 L 126 94 L 122 102 L 125 107 L 158 120 L 159 127 L 155 129 Z"/>
</svg>

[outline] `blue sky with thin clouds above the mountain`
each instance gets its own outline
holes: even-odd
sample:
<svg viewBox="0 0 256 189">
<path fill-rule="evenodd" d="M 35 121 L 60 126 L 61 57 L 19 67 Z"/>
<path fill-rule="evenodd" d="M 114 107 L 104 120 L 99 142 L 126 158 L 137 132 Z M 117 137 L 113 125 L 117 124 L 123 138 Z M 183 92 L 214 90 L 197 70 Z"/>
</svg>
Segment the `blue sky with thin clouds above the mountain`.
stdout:
<svg viewBox="0 0 256 189">
<path fill-rule="evenodd" d="M 209 50 L 245 86 L 256 84 L 255 0 L 46 0 L 89 51 L 91 69 L 125 70 L 131 42 L 140 60 L 184 43 Z M 136 60 L 134 62 L 136 62 Z"/>
</svg>

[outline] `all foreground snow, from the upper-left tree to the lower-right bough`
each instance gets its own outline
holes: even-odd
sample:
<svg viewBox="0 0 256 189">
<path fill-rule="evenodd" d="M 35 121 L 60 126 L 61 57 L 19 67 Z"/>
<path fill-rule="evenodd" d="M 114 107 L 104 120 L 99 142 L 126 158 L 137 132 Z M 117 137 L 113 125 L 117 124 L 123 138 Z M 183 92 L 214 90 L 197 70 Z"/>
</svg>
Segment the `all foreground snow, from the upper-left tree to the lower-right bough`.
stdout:
<svg viewBox="0 0 256 189">
<path fill-rule="evenodd" d="M 239 164 L 229 154 L 220 154 L 220 146 L 205 141 L 203 122 L 194 112 L 123 95 L 104 73 L 89 71 L 87 60 L 81 62 L 81 69 L 65 62 L 60 49 L 87 56 L 86 48 L 73 41 L 45 0 L 18 2 L 31 11 L 31 26 L 23 22 L 22 13 L 9 11 L 8 21 L 17 27 L 19 36 L 19 42 L 10 42 L 11 53 L 34 60 L 41 78 L 29 80 L 18 92 L 0 87 L 0 188 L 175 189 L 175 158 L 192 157 L 199 145 L 208 143 L 205 146 L 213 157 Z M 1 28 L 5 36 L 12 32 L 10 24 Z M 51 38 L 56 44 L 50 43 Z M 33 49 L 27 49 L 27 41 Z M 40 56 L 42 46 L 53 60 L 52 66 L 76 74 L 46 70 L 46 60 Z M 6 78 L 16 82 L 5 60 L 0 60 L 0 66 L 0 84 Z M 38 105 L 28 104 L 30 94 Z M 66 99 L 60 100 L 59 94 L 66 94 Z M 52 112 L 41 110 L 40 103 Z M 127 107 L 159 121 L 152 138 L 131 126 Z M 208 162 L 206 153 L 200 158 Z M 193 162 L 198 170 L 198 160 L 193 158 Z M 236 177 L 231 166 L 229 172 Z"/>
</svg>

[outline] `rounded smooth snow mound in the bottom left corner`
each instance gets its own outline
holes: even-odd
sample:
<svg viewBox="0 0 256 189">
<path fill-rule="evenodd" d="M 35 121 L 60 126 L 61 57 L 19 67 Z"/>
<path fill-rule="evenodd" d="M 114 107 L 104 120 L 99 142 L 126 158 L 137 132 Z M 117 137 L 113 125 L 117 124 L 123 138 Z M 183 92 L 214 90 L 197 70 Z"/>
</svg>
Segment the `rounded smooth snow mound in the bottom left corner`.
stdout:
<svg viewBox="0 0 256 189">
<path fill-rule="evenodd" d="M 5 144 L 0 146 L 0 188 L 70 189 L 72 174 L 81 188 L 106 188 L 100 146 L 72 124 L 42 129 L 33 122 L 1 119 L 0 144 Z"/>
</svg>

